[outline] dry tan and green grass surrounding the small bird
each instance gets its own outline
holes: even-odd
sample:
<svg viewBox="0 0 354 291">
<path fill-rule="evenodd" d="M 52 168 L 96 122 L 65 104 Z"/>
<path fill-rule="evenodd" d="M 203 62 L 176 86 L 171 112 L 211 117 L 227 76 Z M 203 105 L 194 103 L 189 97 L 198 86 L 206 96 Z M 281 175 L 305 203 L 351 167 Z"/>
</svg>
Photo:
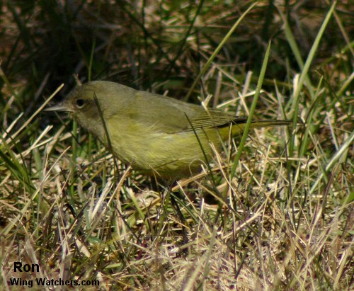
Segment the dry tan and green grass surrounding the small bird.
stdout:
<svg viewBox="0 0 354 291">
<path fill-rule="evenodd" d="M 1 290 L 23 290 L 11 278 L 350 290 L 350 4 L 260 1 L 245 13 L 253 4 L 2 4 Z M 74 74 L 294 124 L 230 139 L 212 176 L 154 186 L 69 118 L 41 112 Z M 14 273 L 16 261 L 40 271 Z"/>
</svg>

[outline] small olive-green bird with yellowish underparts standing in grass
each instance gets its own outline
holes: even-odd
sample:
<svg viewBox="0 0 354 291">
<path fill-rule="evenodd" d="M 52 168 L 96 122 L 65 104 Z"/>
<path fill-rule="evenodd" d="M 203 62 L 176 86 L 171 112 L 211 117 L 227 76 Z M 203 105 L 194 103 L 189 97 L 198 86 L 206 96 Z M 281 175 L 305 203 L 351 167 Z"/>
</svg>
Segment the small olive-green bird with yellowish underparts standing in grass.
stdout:
<svg viewBox="0 0 354 291">
<path fill-rule="evenodd" d="M 77 86 L 47 111 L 72 113 L 79 124 L 125 164 L 162 178 L 181 178 L 200 165 L 232 135 L 242 133 L 246 117 L 178 101 L 110 81 Z M 287 120 L 257 120 L 251 128 L 287 125 Z"/>
</svg>

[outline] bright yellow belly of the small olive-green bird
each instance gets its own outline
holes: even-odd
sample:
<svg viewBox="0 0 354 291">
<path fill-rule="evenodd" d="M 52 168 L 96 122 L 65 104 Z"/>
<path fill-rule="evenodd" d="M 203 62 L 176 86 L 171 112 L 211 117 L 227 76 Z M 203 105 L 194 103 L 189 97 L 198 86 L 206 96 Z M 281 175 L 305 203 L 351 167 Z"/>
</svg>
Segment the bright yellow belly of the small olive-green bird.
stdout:
<svg viewBox="0 0 354 291">
<path fill-rule="evenodd" d="M 212 156 L 211 142 L 216 143 L 216 147 L 221 144 L 214 129 L 207 134 L 200 130 L 198 138 L 193 131 L 169 134 L 146 129 L 144 132 L 135 129 L 134 133 L 121 131 L 118 135 L 111 135 L 113 151 L 119 159 L 132 164 L 134 169 L 169 178 L 198 171 L 205 163 L 205 156 L 207 159 Z"/>
</svg>

